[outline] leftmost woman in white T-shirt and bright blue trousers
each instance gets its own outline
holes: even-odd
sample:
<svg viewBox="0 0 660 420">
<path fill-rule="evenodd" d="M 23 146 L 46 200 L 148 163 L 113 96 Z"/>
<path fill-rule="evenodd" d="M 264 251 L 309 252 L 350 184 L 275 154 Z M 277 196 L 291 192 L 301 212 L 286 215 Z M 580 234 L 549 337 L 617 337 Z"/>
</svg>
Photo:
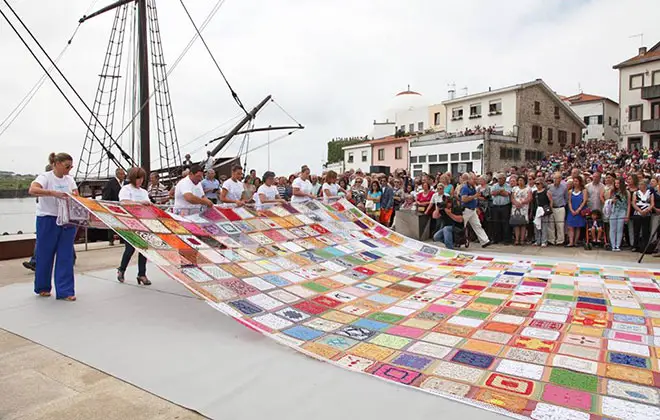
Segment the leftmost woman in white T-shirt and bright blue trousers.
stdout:
<svg viewBox="0 0 660 420">
<path fill-rule="evenodd" d="M 34 292 L 43 297 L 51 295 L 55 265 L 57 299 L 74 301 L 73 242 L 76 228 L 57 225 L 58 208 L 63 204 L 58 199 L 66 199 L 67 194 L 78 194 L 76 181 L 69 175 L 73 168 L 73 158 L 68 153 L 51 153 L 48 160 L 53 170 L 39 175 L 29 190 L 30 195 L 39 197 Z"/>
</svg>

